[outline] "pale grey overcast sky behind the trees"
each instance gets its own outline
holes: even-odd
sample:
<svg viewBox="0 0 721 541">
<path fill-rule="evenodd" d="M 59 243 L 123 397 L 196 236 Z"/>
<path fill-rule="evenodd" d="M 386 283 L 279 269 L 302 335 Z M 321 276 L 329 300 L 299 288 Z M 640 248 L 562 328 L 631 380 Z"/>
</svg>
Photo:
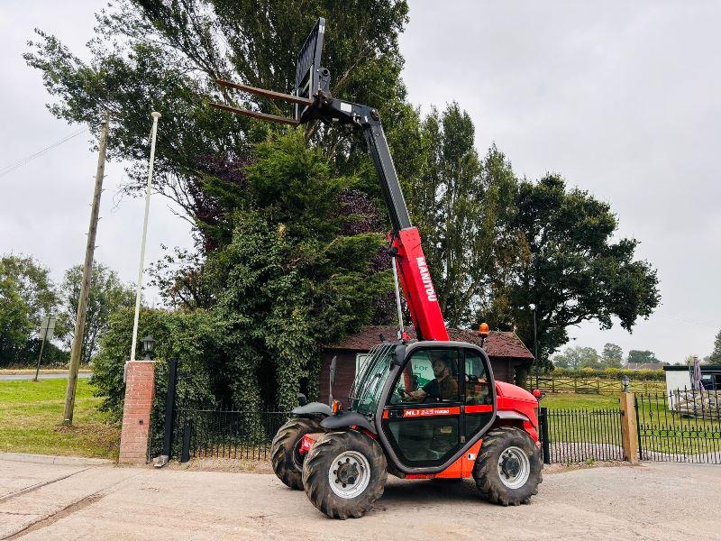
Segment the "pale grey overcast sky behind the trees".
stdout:
<svg viewBox="0 0 721 541">
<path fill-rule="evenodd" d="M 21 54 L 32 29 L 83 57 L 105 0 L 5 0 L 0 5 L 0 168 L 75 133 L 55 119 L 40 74 Z M 401 36 L 409 99 L 428 112 L 452 100 L 516 174 L 546 172 L 607 201 L 619 236 L 640 242 L 658 270 L 662 304 L 633 334 L 593 322 L 571 327 L 570 345 L 607 342 L 651 350 L 664 362 L 710 353 L 721 328 L 721 70 L 712 2 L 410 3 Z M 326 47 L 331 46 L 326 44 Z M 150 130 L 151 116 L 148 115 Z M 162 130 L 162 119 L 160 119 Z M 55 280 L 83 260 L 96 155 L 79 134 L 27 165 L 0 173 L 0 253 L 24 252 Z M 0 169 L 2 171 L 2 169 Z M 143 202 L 119 196 L 123 164 L 106 166 L 96 261 L 137 278 Z M 190 246 L 169 201 L 151 203 L 148 253 Z M 156 300 L 149 290 L 148 300 Z"/>
</svg>

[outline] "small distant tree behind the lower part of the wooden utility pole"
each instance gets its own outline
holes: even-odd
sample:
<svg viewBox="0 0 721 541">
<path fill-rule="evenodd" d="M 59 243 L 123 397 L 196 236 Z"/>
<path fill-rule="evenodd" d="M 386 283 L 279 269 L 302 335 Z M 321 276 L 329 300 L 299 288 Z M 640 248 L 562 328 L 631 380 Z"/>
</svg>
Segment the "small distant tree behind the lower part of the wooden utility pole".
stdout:
<svg viewBox="0 0 721 541">
<path fill-rule="evenodd" d="M 82 265 L 76 265 L 65 272 L 65 278 L 60 287 L 62 304 L 59 325 L 67 330 L 65 344 L 68 348 L 73 342 L 82 281 L 83 267 Z M 96 262 L 93 265 L 80 362 L 83 364 L 90 362 L 94 353 L 96 353 L 100 335 L 107 328 L 113 313 L 122 307 L 132 307 L 134 301 L 135 294 L 132 288 L 123 284 L 115 271 L 101 262 Z"/>
</svg>

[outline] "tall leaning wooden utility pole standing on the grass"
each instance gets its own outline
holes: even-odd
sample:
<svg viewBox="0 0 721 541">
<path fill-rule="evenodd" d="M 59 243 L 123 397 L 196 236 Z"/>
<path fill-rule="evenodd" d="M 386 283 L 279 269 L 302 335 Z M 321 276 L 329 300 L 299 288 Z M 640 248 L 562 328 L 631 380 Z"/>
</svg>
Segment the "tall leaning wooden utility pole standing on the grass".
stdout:
<svg viewBox="0 0 721 541">
<path fill-rule="evenodd" d="M 100 195 L 103 193 L 103 177 L 105 177 L 105 148 L 107 146 L 107 133 L 109 126 L 110 113 L 106 111 L 105 122 L 103 123 L 103 129 L 100 132 L 100 148 L 97 155 L 96 189 L 93 193 L 93 206 L 90 211 L 90 227 L 87 231 L 85 264 L 83 265 L 83 281 L 80 284 L 78 316 L 75 318 L 75 335 L 73 335 L 73 347 L 70 352 L 70 371 L 68 372 L 68 390 L 65 394 L 63 425 L 72 425 L 73 422 L 73 410 L 75 409 L 75 388 L 78 384 L 80 355 L 83 353 L 83 335 L 85 334 L 85 320 L 87 316 L 87 298 L 90 295 L 90 280 L 93 275 L 93 255 L 96 251 L 97 218 L 100 213 Z"/>
</svg>

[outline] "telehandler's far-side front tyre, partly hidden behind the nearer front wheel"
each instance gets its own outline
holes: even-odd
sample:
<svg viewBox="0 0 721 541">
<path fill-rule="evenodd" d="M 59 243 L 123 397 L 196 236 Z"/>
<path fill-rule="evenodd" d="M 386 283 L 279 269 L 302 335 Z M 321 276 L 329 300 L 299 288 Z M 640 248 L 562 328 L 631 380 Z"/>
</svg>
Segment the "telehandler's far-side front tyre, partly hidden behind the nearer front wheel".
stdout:
<svg viewBox="0 0 721 541">
<path fill-rule="evenodd" d="M 323 432 L 316 418 L 290 419 L 278 429 L 270 446 L 270 462 L 278 479 L 294 491 L 303 490 L 303 463 L 305 457 L 298 454 L 300 440 L 306 434 Z"/>
</svg>

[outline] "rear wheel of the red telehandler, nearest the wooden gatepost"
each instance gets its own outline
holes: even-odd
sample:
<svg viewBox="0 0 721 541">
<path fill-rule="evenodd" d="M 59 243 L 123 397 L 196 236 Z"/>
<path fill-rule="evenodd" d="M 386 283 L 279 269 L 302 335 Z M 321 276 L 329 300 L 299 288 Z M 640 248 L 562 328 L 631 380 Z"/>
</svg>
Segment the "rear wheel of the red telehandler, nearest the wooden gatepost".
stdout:
<svg viewBox="0 0 721 541">
<path fill-rule="evenodd" d="M 513 485 L 515 481 L 515 468 L 518 467 L 518 471 L 522 472 L 525 467 L 522 464 L 523 457 L 520 457 L 520 461 L 516 458 L 516 450 L 525 454 L 528 477 L 520 486 L 509 487 L 508 484 Z M 504 455 L 505 452 L 507 455 Z M 498 471 L 501 460 L 507 464 L 507 469 L 501 466 L 503 473 Z M 530 503 L 531 496 L 538 493 L 538 485 L 543 481 L 542 468 L 541 451 L 536 448 L 531 436 L 519 428 L 500 426 L 483 438 L 479 455 L 473 465 L 473 479 L 481 496 L 486 500 L 499 505 L 520 505 Z M 505 481 L 501 480 L 501 475 L 505 476 Z M 516 473 L 516 482 L 523 481 L 524 477 L 525 475 Z"/>
</svg>

